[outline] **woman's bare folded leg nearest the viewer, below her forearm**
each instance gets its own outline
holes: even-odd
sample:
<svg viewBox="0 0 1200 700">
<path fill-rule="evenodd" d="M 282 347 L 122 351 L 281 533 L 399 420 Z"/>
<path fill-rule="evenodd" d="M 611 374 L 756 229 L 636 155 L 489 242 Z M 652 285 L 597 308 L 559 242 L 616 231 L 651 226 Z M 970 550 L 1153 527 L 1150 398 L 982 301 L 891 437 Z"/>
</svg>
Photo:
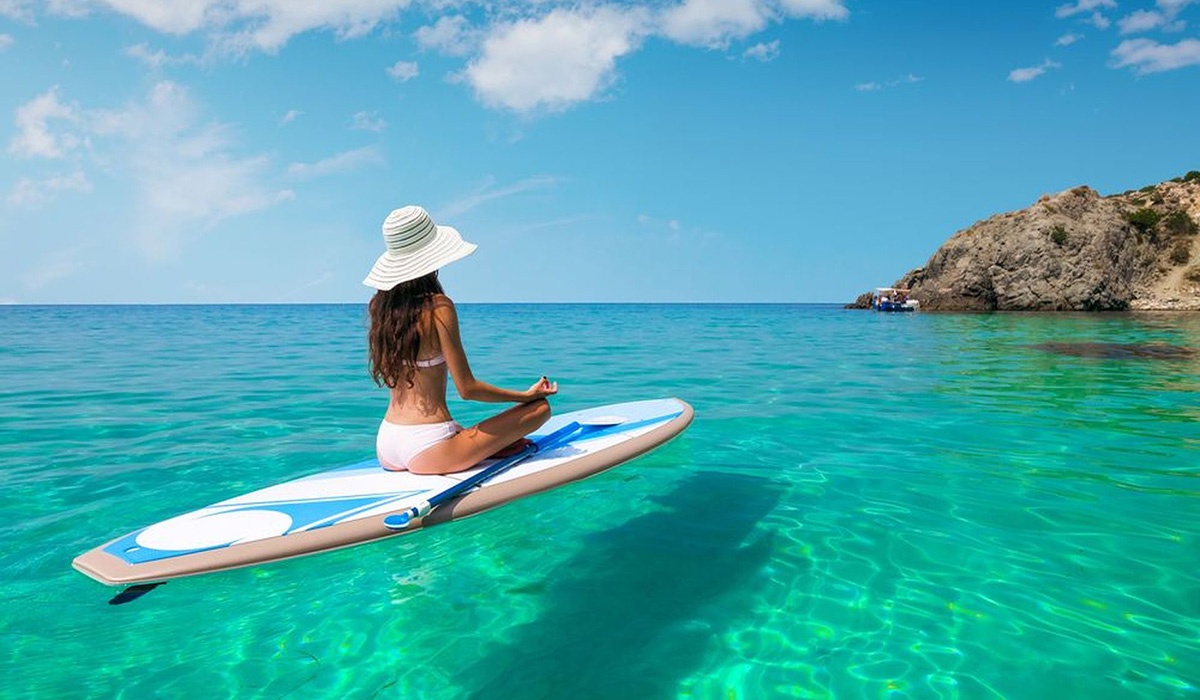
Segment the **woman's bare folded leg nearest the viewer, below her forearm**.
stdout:
<svg viewBox="0 0 1200 700">
<path fill-rule="evenodd" d="M 408 461 L 414 474 L 450 474 L 474 467 L 550 420 L 545 399 L 520 403 L 439 442 Z"/>
</svg>

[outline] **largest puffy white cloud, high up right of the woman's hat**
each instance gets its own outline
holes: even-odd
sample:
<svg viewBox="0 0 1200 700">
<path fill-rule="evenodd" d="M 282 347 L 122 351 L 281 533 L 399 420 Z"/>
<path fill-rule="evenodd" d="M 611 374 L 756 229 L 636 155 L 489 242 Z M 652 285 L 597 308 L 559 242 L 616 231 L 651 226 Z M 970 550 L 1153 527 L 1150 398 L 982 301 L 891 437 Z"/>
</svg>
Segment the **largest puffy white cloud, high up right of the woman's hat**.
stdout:
<svg viewBox="0 0 1200 700">
<path fill-rule="evenodd" d="M 529 113 L 590 100 L 616 80 L 616 61 L 646 35 L 641 10 L 554 10 L 493 30 L 464 72 L 490 107 Z"/>
</svg>

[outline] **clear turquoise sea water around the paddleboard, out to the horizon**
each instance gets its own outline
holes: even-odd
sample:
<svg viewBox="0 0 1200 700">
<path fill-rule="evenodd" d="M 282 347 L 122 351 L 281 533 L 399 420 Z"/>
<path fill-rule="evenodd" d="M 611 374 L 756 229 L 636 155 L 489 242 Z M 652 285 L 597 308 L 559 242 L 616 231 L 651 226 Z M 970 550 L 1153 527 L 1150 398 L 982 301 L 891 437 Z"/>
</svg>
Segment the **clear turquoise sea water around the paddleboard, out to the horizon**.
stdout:
<svg viewBox="0 0 1200 700">
<path fill-rule="evenodd" d="M 410 537 L 115 590 L 71 558 L 370 455 L 361 307 L 0 307 L 4 698 L 1195 698 L 1200 316 L 464 306 L 678 439 Z M 456 403 L 462 421 L 486 406 Z"/>
</svg>

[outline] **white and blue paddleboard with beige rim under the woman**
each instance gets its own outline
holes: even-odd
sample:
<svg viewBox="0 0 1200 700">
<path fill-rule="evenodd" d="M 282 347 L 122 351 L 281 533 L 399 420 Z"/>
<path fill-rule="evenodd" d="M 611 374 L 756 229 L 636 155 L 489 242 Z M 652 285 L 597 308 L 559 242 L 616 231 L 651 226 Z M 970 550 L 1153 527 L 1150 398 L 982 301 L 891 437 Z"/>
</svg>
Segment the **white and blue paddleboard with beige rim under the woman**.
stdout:
<svg viewBox="0 0 1200 700">
<path fill-rule="evenodd" d="M 445 475 L 389 472 L 377 460 L 368 460 L 163 520 L 79 555 L 72 564 L 103 584 L 146 584 L 415 532 L 614 467 L 679 435 L 691 418 L 691 407 L 678 399 L 556 415 L 529 436 L 535 442 L 551 437 L 545 450 L 400 528 L 397 514 L 437 502 L 438 493 L 496 465 L 496 460 Z M 563 438 L 554 437 L 564 431 Z"/>
</svg>

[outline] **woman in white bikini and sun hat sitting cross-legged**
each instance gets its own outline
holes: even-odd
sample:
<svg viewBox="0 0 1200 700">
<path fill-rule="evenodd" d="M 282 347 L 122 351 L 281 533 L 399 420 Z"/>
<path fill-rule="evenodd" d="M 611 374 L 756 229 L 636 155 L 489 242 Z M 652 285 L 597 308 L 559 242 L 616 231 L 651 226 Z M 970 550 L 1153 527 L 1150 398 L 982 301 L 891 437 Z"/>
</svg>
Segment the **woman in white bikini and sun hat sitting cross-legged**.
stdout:
<svg viewBox="0 0 1200 700">
<path fill-rule="evenodd" d="M 524 391 L 511 391 L 472 373 L 438 269 L 475 252 L 475 245 L 454 228 L 434 225 L 420 207 L 388 215 L 383 239 L 388 251 L 362 281 L 378 289 L 368 306 L 371 376 L 391 393 L 376 438 L 379 463 L 448 474 L 520 451 L 528 444 L 524 436 L 550 418 L 546 397 L 558 393 L 558 384 L 542 377 Z M 463 430 L 446 407 L 446 370 L 463 399 L 516 406 Z"/>
</svg>

